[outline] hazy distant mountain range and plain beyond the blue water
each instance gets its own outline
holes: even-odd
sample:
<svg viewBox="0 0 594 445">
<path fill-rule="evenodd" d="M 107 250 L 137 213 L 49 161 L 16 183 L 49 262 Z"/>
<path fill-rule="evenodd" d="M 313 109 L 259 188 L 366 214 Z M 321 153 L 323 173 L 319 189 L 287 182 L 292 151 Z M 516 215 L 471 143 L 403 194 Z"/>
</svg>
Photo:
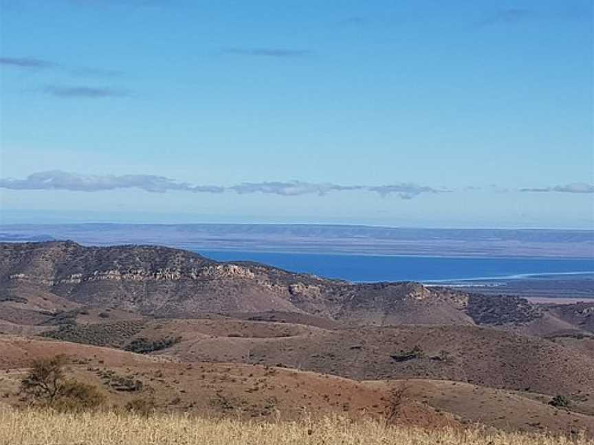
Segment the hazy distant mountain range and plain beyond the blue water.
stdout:
<svg viewBox="0 0 594 445">
<path fill-rule="evenodd" d="M 593 258 L 594 231 L 349 225 L 3 225 L 0 239 L 161 244 L 193 250 L 465 257 Z"/>
</svg>

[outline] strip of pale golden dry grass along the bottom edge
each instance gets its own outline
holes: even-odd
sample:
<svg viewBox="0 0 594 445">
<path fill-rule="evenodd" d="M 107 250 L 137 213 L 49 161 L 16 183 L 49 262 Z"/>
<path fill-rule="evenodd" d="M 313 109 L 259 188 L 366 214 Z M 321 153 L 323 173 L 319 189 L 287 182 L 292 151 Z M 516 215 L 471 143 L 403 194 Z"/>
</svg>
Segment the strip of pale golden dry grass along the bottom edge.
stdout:
<svg viewBox="0 0 594 445">
<path fill-rule="evenodd" d="M 423 431 L 333 417 L 316 422 L 256 423 L 186 415 L 143 418 L 117 413 L 56 414 L 0 410 L 0 445 L 586 445 L 545 435 L 478 430 Z"/>
</svg>

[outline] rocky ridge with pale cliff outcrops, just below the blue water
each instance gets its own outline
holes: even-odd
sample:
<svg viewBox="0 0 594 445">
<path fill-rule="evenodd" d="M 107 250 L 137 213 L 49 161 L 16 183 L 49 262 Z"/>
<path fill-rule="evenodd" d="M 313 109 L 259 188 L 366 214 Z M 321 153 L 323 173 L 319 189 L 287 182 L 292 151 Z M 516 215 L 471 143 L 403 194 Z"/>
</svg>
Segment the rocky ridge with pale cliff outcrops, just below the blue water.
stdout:
<svg viewBox="0 0 594 445">
<path fill-rule="evenodd" d="M 0 301 L 10 299 L 13 310 L 42 293 L 162 317 L 276 310 L 375 325 L 474 323 L 466 293 L 410 282 L 351 284 L 153 246 L 2 243 L 0 286 Z"/>
</svg>

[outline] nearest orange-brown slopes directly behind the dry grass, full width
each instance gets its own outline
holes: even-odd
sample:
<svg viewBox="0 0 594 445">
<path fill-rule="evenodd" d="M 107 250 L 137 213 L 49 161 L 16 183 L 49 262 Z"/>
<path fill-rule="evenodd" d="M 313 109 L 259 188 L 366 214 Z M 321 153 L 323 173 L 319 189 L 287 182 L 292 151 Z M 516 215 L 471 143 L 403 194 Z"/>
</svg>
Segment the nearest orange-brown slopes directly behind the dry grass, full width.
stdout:
<svg viewBox="0 0 594 445">
<path fill-rule="evenodd" d="M 399 424 L 428 427 L 480 422 L 507 431 L 555 433 L 594 431 L 594 417 L 559 410 L 512 391 L 444 380 L 357 382 L 347 378 L 264 365 L 184 363 L 104 347 L 0 336 L 0 393 L 3 402 L 19 401 L 19 380 L 33 358 L 65 352 L 72 357 L 69 377 L 100 388 L 112 404 L 134 398 L 154 400 L 162 411 L 202 415 L 239 415 L 285 420 L 330 413 L 385 415 L 390 391 L 403 393 Z M 133 389 L 126 380 L 142 385 Z M 544 400 L 549 400 L 544 398 Z"/>
</svg>

